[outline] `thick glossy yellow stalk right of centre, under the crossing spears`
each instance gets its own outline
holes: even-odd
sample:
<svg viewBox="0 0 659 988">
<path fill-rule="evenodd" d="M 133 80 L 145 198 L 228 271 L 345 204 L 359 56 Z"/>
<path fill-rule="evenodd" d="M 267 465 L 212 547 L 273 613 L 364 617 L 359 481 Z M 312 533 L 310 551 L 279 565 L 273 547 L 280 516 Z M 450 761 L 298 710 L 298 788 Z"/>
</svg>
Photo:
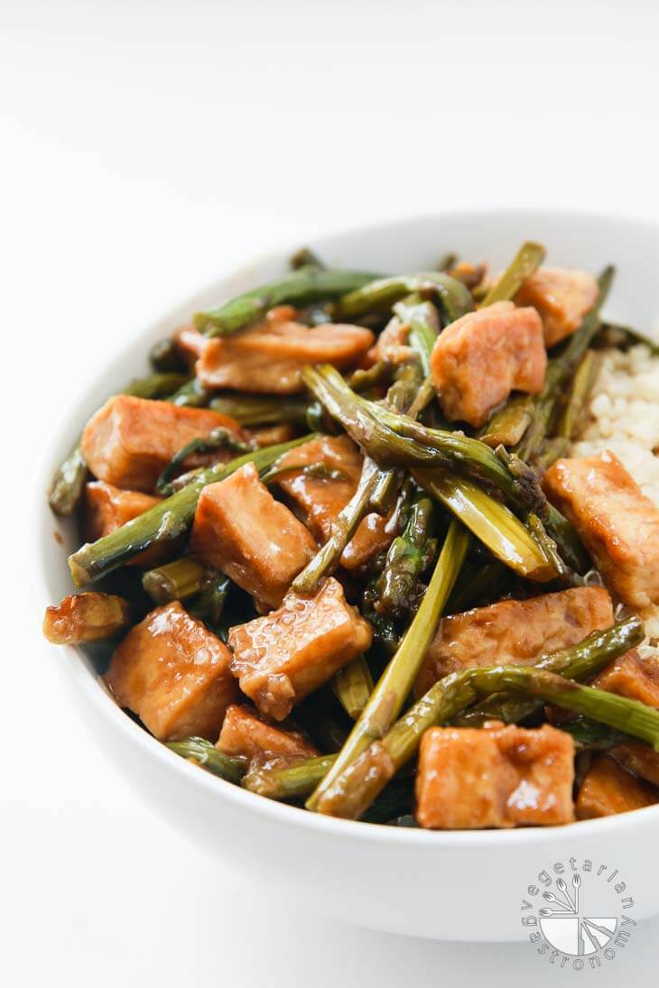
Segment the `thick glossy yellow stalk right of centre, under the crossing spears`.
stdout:
<svg viewBox="0 0 659 988">
<path fill-rule="evenodd" d="M 512 511 L 471 481 L 440 470 L 413 469 L 412 476 L 516 573 L 540 583 L 558 575 L 555 562 L 547 559 Z"/>
</svg>

